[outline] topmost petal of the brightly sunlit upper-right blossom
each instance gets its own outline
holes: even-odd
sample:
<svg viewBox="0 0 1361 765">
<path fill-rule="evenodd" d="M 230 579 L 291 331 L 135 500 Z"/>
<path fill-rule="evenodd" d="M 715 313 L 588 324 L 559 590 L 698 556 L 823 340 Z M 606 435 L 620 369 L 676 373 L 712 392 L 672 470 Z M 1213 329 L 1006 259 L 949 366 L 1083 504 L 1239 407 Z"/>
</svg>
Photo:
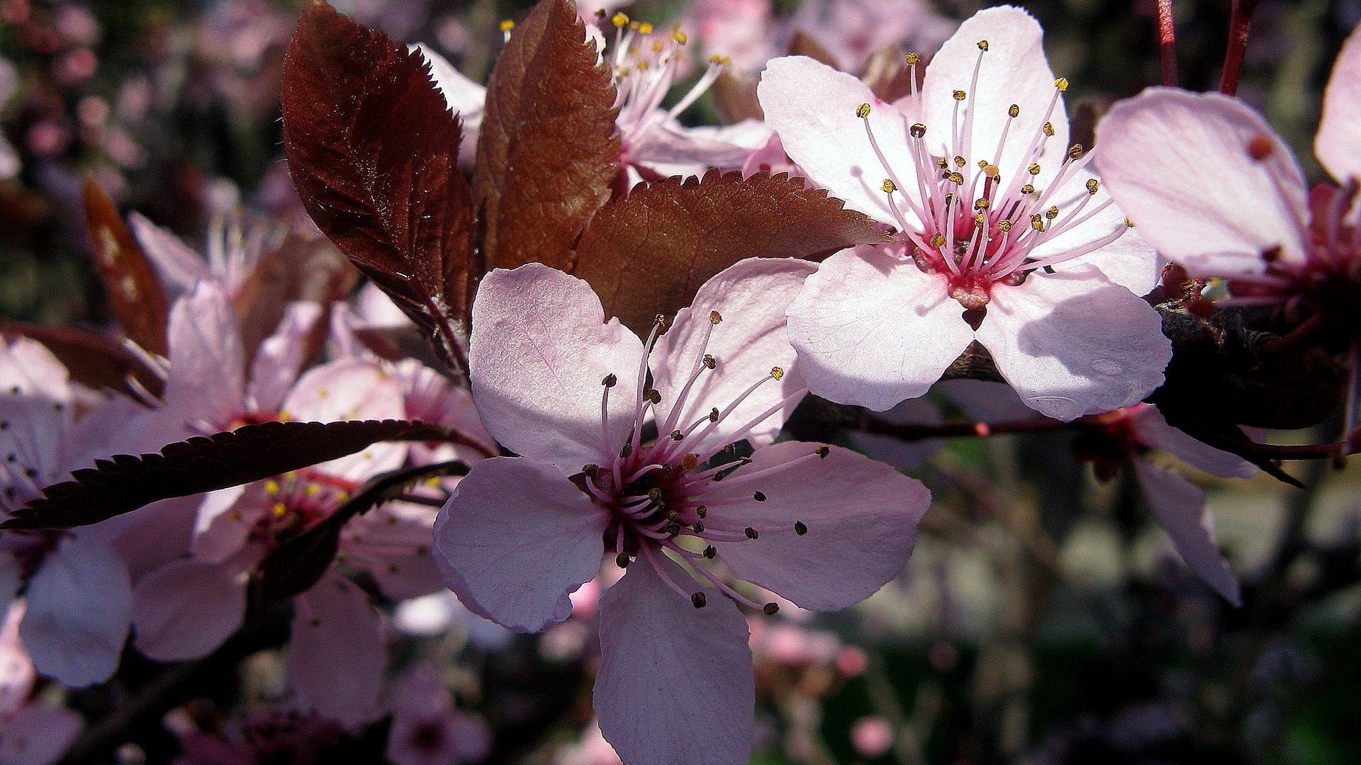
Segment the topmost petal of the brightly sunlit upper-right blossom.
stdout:
<svg viewBox="0 0 1361 765">
<path fill-rule="evenodd" d="M 988 42 L 987 52 L 979 50 L 980 41 Z M 973 72 L 980 53 L 983 63 L 974 87 Z M 1006 178 L 1029 165 L 1030 142 L 1048 121 L 1055 135 L 1044 144 L 1045 151 L 1038 161 L 1044 172 L 1038 178 L 1052 178 L 1057 173 L 1059 158 L 1068 148 L 1063 97 L 1059 97 L 1053 113 L 1045 114 L 1055 94 L 1053 80 L 1053 69 L 1044 57 L 1044 31 L 1030 14 L 1010 5 L 979 11 L 945 41 L 927 65 L 921 83 L 927 148 L 940 155 L 943 146 L 953 146 L 955 142 L 949 139 L 955 109 L 960 109 L 961 129 L 964 109 L 969 109 L 973 113 L 970 151 L 974 154 L 969 159 L 992 161 Z M 965 91 L 966 99 L 955 101 L 955 90 Z M 1015 118 L 1009 114 L 1011 105 L 1021 109 Z M 1009 124 L 1007 143 L 1002 155 L 995 157 L 1002 131 Z"/>
</svg>

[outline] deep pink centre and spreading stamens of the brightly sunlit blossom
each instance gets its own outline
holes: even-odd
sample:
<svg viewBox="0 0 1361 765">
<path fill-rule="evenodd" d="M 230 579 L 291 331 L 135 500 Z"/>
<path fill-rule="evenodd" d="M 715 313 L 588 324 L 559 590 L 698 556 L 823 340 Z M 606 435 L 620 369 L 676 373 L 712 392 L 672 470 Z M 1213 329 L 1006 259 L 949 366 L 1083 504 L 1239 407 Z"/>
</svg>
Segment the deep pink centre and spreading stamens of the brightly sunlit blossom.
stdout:
<svg viewBox="0 0 1361 765">
<path fill-rule="evenodd" d="M 1057 255 L 1032 256 L 1036 248 L 1082 226 L 1112 201 L 1102 195 L 1101 201 L 1089 206 L 1100 191 L 1096 178 L 1074 188 L 1094 157 L 1081 144 L 1068 148 L 1057 173 L 1048 178 L 1048 188 L 1036 186 L 1044 172 L 1040 159 L 1055 135 L 1049 118 L 1059 106 L 1059 94 L 1068 87 L 1063 78 L 1055 80 L 1044 121 L 1033 135 L 1013 131 L 1021 116 L 1017 103 L 1007 108 L 1007 120 L 995 142 L 988 140 L 992 136 L 974 135 L 974 94 L 987 52 L 988 41 L 979 41 L 973 78 L 966 90 L 951 93 L 954 110 L 947 125 L 916 123 L 908 128 L 911 174 L 900 176 L 882 151 L 870 127 L 874 106 L 862 103 L 856 109 L 883 166 L 886 177 L 881 188 L 913 261 L 928 274 L 945 276 L 949 295 L 969 310 L 983 309 L 995 286 L 1021 284 L 1036 268 L 1094 252 L 1120 238 L 1130 226 L 1126 222 Z M 916 87 L 916 54 L 909 53 L 906 61 L 913 83 L 908 98 L 915 102 L 916 113 L 924 113 L 923 95 Z M 1007 150 L 1015 146 L 1023 147 L 1022 151 L 1009 155 Z M 1018 159 L 1002 166 L 1007 157 Z"/>
</svg>

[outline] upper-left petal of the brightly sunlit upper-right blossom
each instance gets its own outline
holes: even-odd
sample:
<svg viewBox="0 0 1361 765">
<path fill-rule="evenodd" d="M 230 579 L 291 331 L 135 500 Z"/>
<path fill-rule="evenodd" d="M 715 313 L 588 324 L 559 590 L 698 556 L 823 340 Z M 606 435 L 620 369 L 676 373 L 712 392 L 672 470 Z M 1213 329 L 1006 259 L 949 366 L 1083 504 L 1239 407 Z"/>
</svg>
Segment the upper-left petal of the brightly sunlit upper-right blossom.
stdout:
<svg viewBox="0 0 1361 765">
<path fill-rule="evenodd" d="M 844 199 L 847 207 L 896 223 L 881 185 L 887 177 L 856 108 L 870 103 L 870 128 L 894 173 L 908 188 L 916 163 L 908 148 L 908 121 L 852 75 L 804 56 L 772 59 L 757 86 L 766 124 L 808 178 Z"/>
</svg>

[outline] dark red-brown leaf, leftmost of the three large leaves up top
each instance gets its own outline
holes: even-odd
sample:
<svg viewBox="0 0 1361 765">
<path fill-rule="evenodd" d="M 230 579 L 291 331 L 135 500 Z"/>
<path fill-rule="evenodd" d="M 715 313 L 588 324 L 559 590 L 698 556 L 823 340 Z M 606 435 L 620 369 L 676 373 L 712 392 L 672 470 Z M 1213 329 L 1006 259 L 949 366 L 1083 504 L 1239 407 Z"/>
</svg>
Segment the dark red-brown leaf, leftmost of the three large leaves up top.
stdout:
<svg viewBox="0 0 1361 765">
<path fill-rule="evenodd" d="M 308 0 L 283 64 L 283 146 L 317 226 L 456 358 L 472 197 L 425 59 Z"/>
</svg>

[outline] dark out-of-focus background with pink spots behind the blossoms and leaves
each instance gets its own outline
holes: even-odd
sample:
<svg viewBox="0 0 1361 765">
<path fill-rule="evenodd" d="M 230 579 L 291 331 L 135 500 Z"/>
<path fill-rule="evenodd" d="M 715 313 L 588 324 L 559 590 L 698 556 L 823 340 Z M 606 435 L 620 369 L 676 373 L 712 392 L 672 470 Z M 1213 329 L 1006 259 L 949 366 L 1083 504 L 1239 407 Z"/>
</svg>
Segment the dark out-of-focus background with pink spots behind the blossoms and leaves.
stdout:
<svg viewBox="0 0 1361 765">
<path fill-rule="evenodd" d="M 528 3 L 335 5 L 425 44 L 480 83 L 502 44 L 499 22 Z M 611 8 L 659 26 L 678 20 L 704 52 L 735 65 L 750 54 L 753 69 L 787 48 L 796 26 L 821 30 L 822 46 L 844 46 L 840 63 L 855 71 L 857 49 L 923 45 L 928 53 L 981 4 L 815 5 Z M 1055 72 L 1072 83 L 1078 129 L 1160 82 L 1153 0 L 1023 5 L 1045 27 Z M 1213 90 L 1230 3 L 1173 7 L 1181 84 Z M 246 231 L 318 235 L 279 143 L 279 65 L 298 8 L 282 0 L 0 0 L 0 317 L 110 324 L 80 219 L 87 176 L 124 211 L 200 250 L 210 237 L 233 235 L 223 221 L 235 216 Z M 1323 180 L 1312 158 L 1320 93 L 1358 18 L 1357 0 L 1262 0 L 1256 8 L 1240 95 L 1296 148 L 1311 180 Z M 712 94 L 686 112 L 697 124 L 717 118 Z M 946 393 L 930 404 L 916 415 L 970 414 Z M 955 438 L 912 453 L 836 437 L 908 466 L 936 501 L 908 569 L 863 606 L 830 615 L 785 608 L 753 621 L 754 762 L 1361 762 L 1354 464 L 1288 464 L 1302 490 L 1264 475 L 1226 482 L 1190 472 L 1209 494 L 1244 585 L 1244 606 L 1234 608 L 1176 558 L 1128 471 L 1096 481 L 1074 459 L 1071 434 Z M 1273 437 L 1331 440 L 1327 427 Z M 407 603 L 393 611 L 404 636 L 393 651 L 437 660 L 459 705 L 493 731 L 486 761 L 607 764 L 612 753 L 591 728 L 592 598 L 584 591 L 573 619 L 542 636 L 510 636 L 444 598 Z M 269 698 L 276 675 L 269 652 L 252 656 L 206 682 L 203 700 L 176 719 L 203 727 L 206 717 L 240 716 Z M 112 691 L 84 693 L 76 701 L 90 715 L 116 704 Z M 155 740 L 120 757 L 157 761 L 174 751 Z M 374 761 L 363 758 L 370 754 L 361 742 L 317 761 Z"/>
</svg>

